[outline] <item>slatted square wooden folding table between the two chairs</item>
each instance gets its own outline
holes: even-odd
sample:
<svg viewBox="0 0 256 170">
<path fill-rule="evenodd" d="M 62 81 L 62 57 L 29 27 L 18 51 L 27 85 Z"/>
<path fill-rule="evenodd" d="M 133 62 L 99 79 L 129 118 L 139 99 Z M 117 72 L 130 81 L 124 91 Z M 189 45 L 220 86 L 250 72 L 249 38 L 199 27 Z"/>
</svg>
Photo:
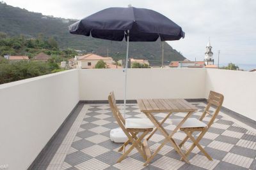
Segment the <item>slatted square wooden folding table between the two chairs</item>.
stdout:
<svg viewBox="0 0 256 170">
<path fill-rule="evenodd" d="M 180 146 L 177 145 L 177 143 L 175 143 L 172 136 L 175 134 L 175 132 L 177 132 L 180 129 L 180 127 L 182 126 L 182 124 L 184 124 L 187 118 L 190 117 L 190 115 L 197 110 L 197 108 L 192 104 L 188 103 L 187 101 L 185 101 L 184 99 L 138 99 L 137 103 L 140 108 L 140 111 L 145 113 L 145 115 L 147 115 L 147 117 L 152 121 L 152 123 L 156 125 L 156 129 L 154 129 L 152 134 L 148 136 L 147 140 L 150 139 L 157 130 L 159 130 L 165 138 L 163 143 L 147 159 L 144 166 L 146 166 L 157 155 L 161 148 L 163 148 L 163 146 L 168 142 L 172 144 L 173 148 L 177 151 L 177 153 L 179 153 L 180 157 L 189 164 L 188 159 L 180 149 Z M 167 115 L 161 122 L 158 122 L 157 119 L 154 117 L 153 113 L 163 112 L 166 112 Z M 170 117 L 170 115 L 172 115 L 173 112 L 185 112 L 188 114 L 186 115 L 186 117 L 182 119 L 182 121 L 177 125 L 177 127 L 175 127 L 175 129 L 170 134 L 168 134 L 168 132 L 164 129 L 162 125 L 167 120 L 167 118 Z"/>
</svg>

